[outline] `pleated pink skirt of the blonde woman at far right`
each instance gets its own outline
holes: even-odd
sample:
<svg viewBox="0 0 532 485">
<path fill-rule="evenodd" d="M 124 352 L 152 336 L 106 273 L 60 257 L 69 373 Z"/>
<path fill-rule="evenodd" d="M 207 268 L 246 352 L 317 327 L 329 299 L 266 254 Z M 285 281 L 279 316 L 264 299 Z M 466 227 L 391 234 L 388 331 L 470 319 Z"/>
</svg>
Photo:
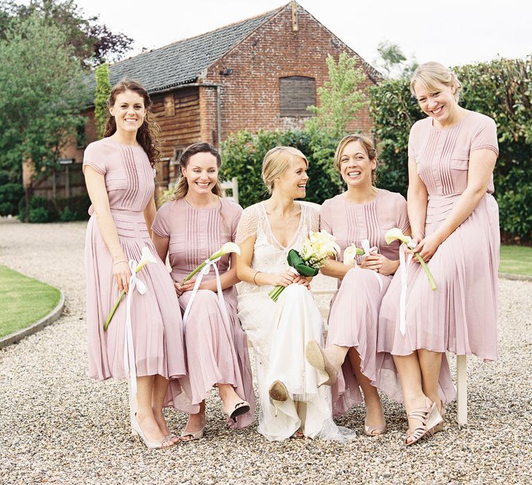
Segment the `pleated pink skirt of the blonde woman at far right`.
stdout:
<svg viewBox="0 0 532 485">
<path fill-rule="evenodd" d="M 458 197 L 459 194 L 429 197 L 427 236 L 443 224 Z M 497 202 L 486 194 L 429 261 L 435 291 L 431 290 L 423 267 L 411 263 L 405 336 L 399 330 L 401 282 L 398 274 L 393 278 L 380 308 L 378 351 L 409 355 L 417 349 L 427 349 L 497 360 L 499 246 Z M 455 394 L 447 369 L 444 355 L 440 374 L 444 400 Z"/>
</svg>

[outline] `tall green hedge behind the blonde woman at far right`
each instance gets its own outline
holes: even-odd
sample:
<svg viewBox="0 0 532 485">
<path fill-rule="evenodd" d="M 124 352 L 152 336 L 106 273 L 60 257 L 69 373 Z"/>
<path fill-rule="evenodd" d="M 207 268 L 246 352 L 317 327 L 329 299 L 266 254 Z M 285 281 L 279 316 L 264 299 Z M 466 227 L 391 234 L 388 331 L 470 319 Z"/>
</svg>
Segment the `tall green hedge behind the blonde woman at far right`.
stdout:
<svg viewBox="0 0 532 485">
<path fill-rule="evenodd" d="M 454 68 L 463 83 L 466 109 L 495 119 L 499 159 L 495 166 L 495 197 L 501 229 L 532 239 L 532 58 L 495 60 Z M 406 194 L 408 134 L 424 118 L 411 96 L 409 80 L 383 80 L 371 87 L 370 112 L 380 141 L 380 185 Z"/>
</svg>

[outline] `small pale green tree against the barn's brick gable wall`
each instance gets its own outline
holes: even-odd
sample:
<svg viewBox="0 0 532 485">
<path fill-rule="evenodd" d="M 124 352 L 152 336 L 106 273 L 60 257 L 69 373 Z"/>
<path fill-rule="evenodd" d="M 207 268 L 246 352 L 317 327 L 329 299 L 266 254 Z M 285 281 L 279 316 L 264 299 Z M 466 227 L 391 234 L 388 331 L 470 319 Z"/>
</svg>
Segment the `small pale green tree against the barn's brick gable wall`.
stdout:
<svg viewBox="0 0 532 485">
<path fill-rule="evenodd" d="M 311 134 L 326 132 L 334 139 L 342 138 L 355 114 L 366 105 L 366 94 L 360 88 L 366 76 L 362 67 L 356 67 L 357 62 L 345 52 L 339 55 L 338 62 L 328 56 L 329 79 L 317 89 L 319 107 L 308 108 L 316 115 L 305 123 Z"/>
</svg>

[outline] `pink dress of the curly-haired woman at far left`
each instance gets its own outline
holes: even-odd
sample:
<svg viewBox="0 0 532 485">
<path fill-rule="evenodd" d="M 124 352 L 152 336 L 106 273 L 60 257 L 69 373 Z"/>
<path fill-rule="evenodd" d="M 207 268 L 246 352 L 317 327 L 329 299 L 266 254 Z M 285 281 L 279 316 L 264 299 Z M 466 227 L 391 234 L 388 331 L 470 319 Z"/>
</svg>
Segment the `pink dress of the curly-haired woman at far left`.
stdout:
<svg viewBox="0 0 532 485">
<path fill-rule="evenodd" d="M 139 261 L 143 247 L 157 255 L 146 227 L 143 210 L 153 197 L 154 169 L 141 147 L 122 145 L 109 138 L 87 146 L 83 166 L 90 166 L 105 177 L 112 218 L 125 257 Z M 89 376 L 104 380 L 125 378 L 124 338 L 126 298 L 112 321 L 103 324 L 114 302 L 118 287 L 113 279 L 113 261 L 103 240 L 96 213 L 89 208 L 85 240 L 87 273 L 87 337 L 89 341 Z M 138 276 L 147 287 L 145 294 L 132 295 L 132 332 L 137 376 L 159 374 L 171 379 L 166 405 L 187 409 L 186 394 L 181 394 L 177 378 L 186 375 L 181 315 L 172 279 L 163 263 L 149 263 Z"/>
</svg>

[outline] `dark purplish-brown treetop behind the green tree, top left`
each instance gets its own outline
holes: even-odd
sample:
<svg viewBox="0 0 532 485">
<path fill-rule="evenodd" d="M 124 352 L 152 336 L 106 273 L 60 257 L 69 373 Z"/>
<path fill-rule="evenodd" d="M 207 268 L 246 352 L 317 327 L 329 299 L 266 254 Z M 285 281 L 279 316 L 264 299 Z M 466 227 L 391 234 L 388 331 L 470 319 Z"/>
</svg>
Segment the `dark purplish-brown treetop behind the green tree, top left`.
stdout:
<svg viewBox="0 0 532 485">
<path fill-rule="evenodd" d="M 9 31 L 17 30 L 19 21 L 35 13 L 48 24 L 60 26 L 67 36 L 73 53 L 84 67 L 118 60 L 131 46 L 133 39 L 123 33 L 113 33 L 98 17 L 85 18 L 74 0 L 30 0 L 19 5 L 14 0 L 0 2 L 0 39 Z"/>
</svg>

